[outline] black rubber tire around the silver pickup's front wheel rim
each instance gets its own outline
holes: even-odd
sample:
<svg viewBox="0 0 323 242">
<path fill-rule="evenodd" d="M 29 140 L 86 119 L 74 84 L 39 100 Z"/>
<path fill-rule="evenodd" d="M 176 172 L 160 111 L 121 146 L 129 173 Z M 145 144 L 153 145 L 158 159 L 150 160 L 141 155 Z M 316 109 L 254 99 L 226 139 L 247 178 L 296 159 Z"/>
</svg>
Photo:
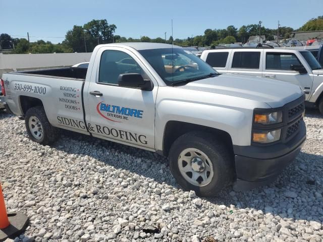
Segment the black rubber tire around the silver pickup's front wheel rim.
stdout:
<svg viewBox="0 0 323 242">
<path fill-rule="evenodd" d="M 178 158 L 187 148 L 195 148 L 207 155 L 213 166 L 213 177 L 205 186 L 195 186 L 187 181 L 180 172 Z M 228 187 L 233 180 L 233 156 L 228 146 L 221 144 L 210 134 L 190 132 L 180 136 L 172 145 L 169 153 L 170 169 L 177 183 L 186 191 L 193 190 L 198 196 L 214 197 Z"/>
</svg>

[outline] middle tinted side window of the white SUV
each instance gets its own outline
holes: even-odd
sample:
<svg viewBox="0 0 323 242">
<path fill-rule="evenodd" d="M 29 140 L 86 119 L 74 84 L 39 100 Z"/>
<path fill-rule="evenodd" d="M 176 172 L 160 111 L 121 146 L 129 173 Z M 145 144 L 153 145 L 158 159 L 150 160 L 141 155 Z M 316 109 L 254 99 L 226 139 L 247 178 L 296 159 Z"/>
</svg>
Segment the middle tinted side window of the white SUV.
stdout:
<svg viewBox="0 0 323 242">
<path fill-rule="evenodd" d="M 260 52 L 235 52 L 232 68 L 259 69 Z"/>
</svg>

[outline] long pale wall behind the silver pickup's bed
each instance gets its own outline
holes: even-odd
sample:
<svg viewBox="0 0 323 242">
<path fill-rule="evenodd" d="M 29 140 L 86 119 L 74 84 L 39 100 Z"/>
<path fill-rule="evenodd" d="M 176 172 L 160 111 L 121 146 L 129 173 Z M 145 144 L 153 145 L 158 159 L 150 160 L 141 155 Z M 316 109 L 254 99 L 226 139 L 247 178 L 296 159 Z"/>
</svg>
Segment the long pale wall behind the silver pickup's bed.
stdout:
<svg viewBox="0 0 323 242">
<path fill-rule="evenodd" d="M 2 54 L 0 75 L 8 71 L 58 68 L 89 62 L 92 53 Z"/>
</svg>

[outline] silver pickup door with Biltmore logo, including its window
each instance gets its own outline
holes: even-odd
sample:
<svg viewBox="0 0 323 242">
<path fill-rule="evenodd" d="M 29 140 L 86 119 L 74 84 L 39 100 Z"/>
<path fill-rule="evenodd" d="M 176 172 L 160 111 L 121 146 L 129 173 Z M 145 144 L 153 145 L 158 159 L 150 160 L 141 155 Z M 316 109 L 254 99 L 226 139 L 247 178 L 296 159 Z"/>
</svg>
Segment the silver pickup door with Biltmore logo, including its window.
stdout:
<svg viewBox="0 0 323 242">
<path fill-rule="evenodd" d="M 130 50 L 101 47 L 96 56 L 94 66 L 98 68 L 93 69 L 84 93 L 90 132 L 95 137 L 153 149 L 157 82 Z M 139 73 L 145 80 L 150 79 L 153 90 L 120 87 L 118 77 L 125 73 Z"/>
</svg>

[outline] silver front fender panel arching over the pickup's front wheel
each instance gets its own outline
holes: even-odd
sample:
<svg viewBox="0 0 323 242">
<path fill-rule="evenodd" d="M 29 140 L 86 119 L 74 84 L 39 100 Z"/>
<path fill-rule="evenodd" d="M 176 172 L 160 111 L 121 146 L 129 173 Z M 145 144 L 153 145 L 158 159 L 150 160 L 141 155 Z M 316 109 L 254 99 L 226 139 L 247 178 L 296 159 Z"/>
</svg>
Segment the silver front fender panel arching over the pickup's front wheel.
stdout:
<svg viewBox="0 0 323 242">
<path fill-rule="evenodd" d="M 155 148 L 163 150 L 169 121 L 180 121 L 227 132 L 234 145 L 251 143 L 253 109 L 209 105 L 196 102 L 163 100 L 156 105 Z"/>
</svg>

